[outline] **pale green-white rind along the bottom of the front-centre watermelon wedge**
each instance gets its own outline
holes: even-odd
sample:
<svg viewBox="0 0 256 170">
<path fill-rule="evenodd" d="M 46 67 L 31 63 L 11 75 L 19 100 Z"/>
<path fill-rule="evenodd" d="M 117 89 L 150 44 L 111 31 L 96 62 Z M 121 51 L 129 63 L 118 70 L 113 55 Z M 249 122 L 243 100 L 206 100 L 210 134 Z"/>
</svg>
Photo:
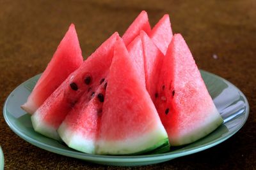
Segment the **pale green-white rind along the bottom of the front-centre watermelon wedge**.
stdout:
<svg viewBox="0 0 256 170">
<path fill-rule="evenodd" d="M 143 134 L 138 138 L 129 138 L 125 140 L 99 140 L 97 142 L 96 153 L 104 155 L 124 155 L 145 153 L 159 148 L 159 146 L 169 145 L 166 131 L 159 122 L 154 131 Z M 100 147 L 99 147 L 100 146 Z"/>
</svg>

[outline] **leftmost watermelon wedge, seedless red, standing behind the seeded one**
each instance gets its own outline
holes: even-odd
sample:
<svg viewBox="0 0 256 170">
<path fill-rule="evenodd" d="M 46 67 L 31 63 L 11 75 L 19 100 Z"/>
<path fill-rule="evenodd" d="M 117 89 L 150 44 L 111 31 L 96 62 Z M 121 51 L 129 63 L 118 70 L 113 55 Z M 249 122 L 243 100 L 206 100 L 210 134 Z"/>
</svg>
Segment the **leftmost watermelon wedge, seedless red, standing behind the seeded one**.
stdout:
<svg viewBox="0 0 256 170">
<path fill-rule="evenodd" d="M 56 90 L 70 73 L 83 63 L 83 57 L 74 24 L 71 24 L 61 40 L 51 62 L 49 62 L 28 101 L 21 106 L 23 110 L 33 114 L 45 99 Z"/>
</svg>

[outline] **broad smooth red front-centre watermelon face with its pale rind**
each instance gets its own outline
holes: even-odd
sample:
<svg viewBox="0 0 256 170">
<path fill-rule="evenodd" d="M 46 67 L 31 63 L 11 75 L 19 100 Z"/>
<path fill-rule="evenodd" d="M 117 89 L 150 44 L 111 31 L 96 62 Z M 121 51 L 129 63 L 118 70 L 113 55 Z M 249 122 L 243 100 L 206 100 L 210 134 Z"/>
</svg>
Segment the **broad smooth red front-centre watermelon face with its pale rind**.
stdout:
<svg viewBox="0 0 256 170">
<path fill-rule="evenodd" d="M 100 120 L 98 154 L 131 154 L 169 145 L 156 108 L 125 45 L 118 41 Z"/>
</svg>

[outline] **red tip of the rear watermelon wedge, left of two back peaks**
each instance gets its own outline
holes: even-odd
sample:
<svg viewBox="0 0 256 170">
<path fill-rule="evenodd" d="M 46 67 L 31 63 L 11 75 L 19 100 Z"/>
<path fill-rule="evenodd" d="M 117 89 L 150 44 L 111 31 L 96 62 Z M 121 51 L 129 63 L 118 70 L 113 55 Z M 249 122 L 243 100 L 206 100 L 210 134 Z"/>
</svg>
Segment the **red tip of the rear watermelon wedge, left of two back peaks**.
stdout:
<svg viewBox="0 0 256 170">
<path fill-rule="evenodd" d="M 131 41 L 140 34 L 140 31 L 143 30 L 148 34 L 151 31 L 150 24 L 148 22 L 148 14 L 146 11 L 141 11 L 140 15 L 132 22 L 132 24 L 125 31 L 122 39 L 125 45 L 129 45 Z"/>
</svg>

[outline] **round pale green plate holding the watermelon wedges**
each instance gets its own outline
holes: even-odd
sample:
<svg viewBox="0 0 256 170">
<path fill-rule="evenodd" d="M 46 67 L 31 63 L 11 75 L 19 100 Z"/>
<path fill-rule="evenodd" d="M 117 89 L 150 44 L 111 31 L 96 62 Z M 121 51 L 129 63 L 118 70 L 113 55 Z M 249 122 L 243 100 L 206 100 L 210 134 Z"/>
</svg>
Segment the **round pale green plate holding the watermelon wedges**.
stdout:
<svg viewBox="0 0 256 170">
<path fill-rule="evenodd" d="M 216 107 L 220 111 L 221 117 L 223 117 L 224 123 L 205 138 L 190 145 L 171 148 L 172 150 L 167 153 L 138 156 L 91 155 L 77 152 L 63 145 L 63 143 L 38 134 L 33 130 L 30 115 L 21 110 L 20 105 L 26 102 L 31 89 L 33 89 L 40 75 L 30 78 L 13 90 L 4 103 L 4 118 L 12 131 L 20 136 L 20 138 L 50 152 L 95 162 L 97 164 L 114 166 L 156 164 L 218 145 L 241 129 L 248 118 L 248 101 L 237 87 L 227 80 L 206 71 L 201 71 L 201 74 Z"/>
</svg>

